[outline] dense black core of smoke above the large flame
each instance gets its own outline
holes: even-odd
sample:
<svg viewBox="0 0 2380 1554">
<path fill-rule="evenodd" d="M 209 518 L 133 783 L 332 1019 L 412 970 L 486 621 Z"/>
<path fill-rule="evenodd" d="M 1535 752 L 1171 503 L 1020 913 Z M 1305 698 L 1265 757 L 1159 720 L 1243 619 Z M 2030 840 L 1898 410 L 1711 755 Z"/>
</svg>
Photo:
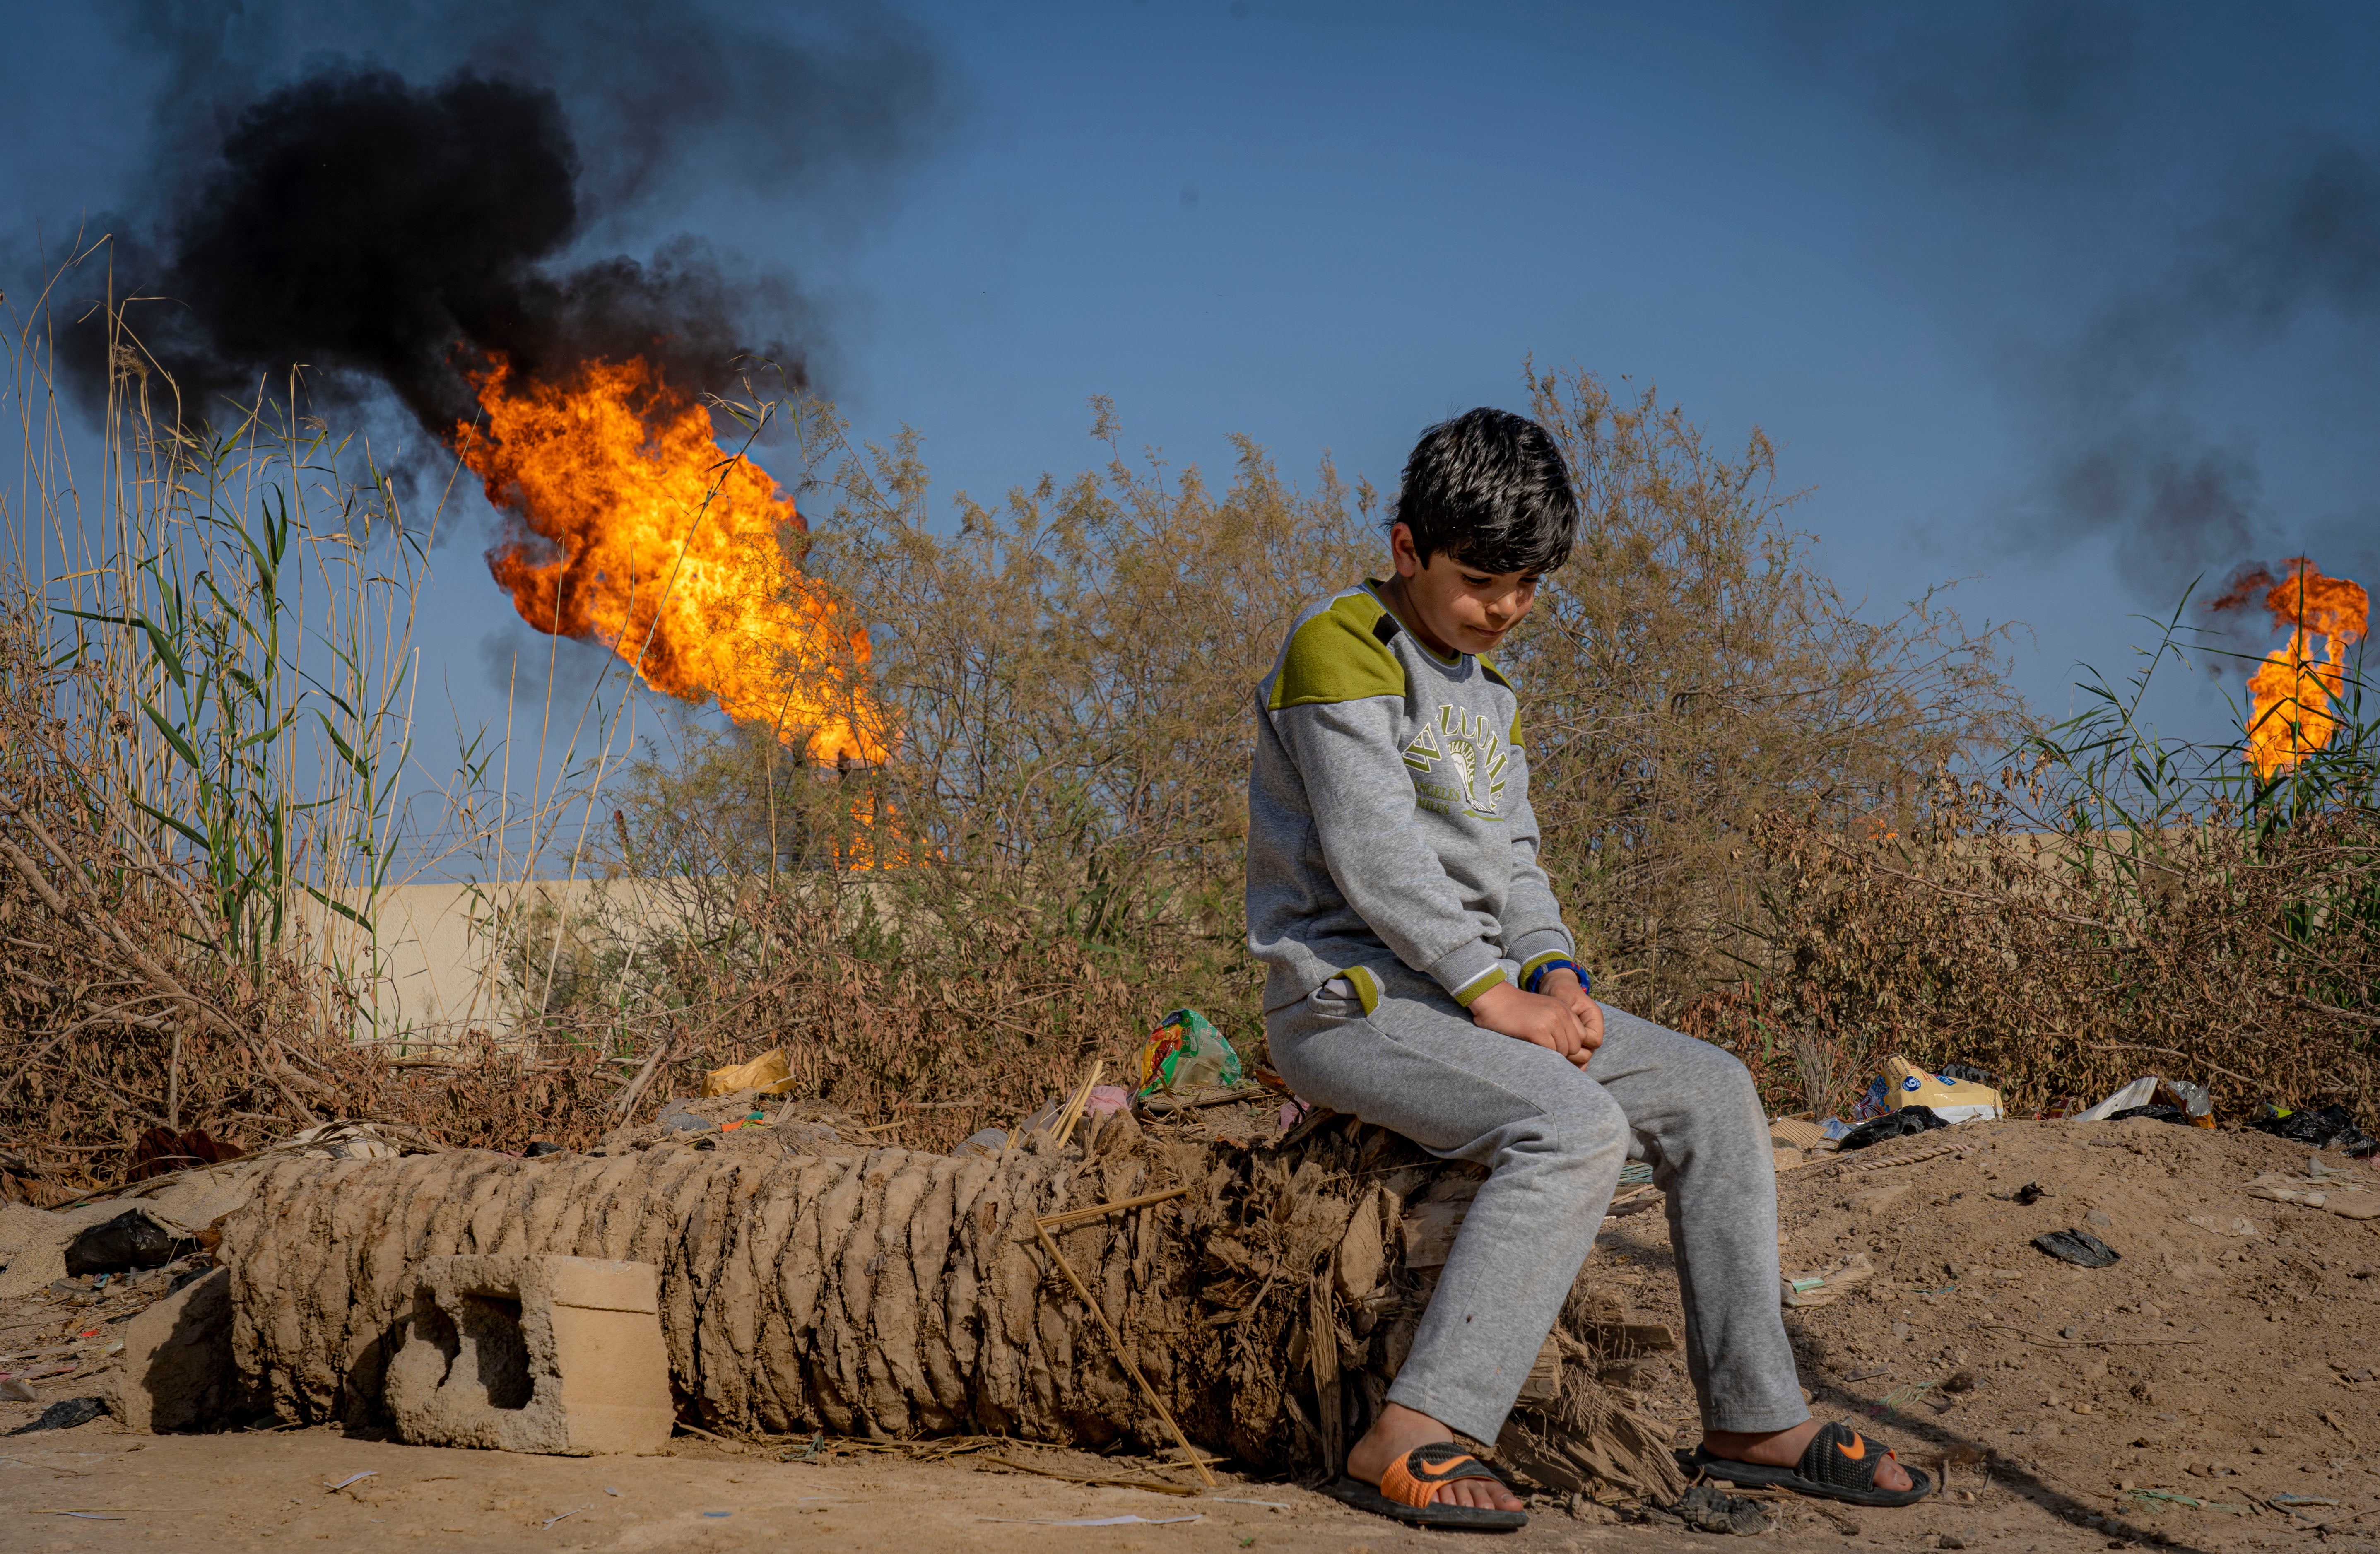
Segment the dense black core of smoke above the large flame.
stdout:
<svg viewBox="0 0 2380 1554">
<path fill-rule="evenodd" d="M 131 321 L 198 419 L 295 364 L 328 376 L 317 397 L 386 383 L 433 436 L 474 414 L 464 371 L 490 352 L 533 378 L 624 355 L 721 378 L 743 340 L 719 267 L 678 245 L 547 269 L 581 221 L 550 90 L 328 71 L 243 112 L 162 245 L 117 264 L 167 300 Z"/>
</svg>

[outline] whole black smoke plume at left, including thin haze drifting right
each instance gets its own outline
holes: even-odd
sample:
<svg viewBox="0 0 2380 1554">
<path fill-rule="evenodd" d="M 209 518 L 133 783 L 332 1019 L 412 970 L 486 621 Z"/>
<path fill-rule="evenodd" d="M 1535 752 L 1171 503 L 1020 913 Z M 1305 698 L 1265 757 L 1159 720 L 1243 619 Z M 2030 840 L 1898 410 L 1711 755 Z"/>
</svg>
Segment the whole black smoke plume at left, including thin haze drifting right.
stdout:
<svg viewBox="0 0 2380 1554">
<path fill-rule="evenodd" d="M 719 181 L 831 202 L 835 178 L 881 174 L 940 124 L 931 55 L 876 24 L 802 48 L 688 0 L 443 5 L 414 36 L 445 62 L 400 74 L 276 62 L 276 24 L 371 45 L 376 12 L 138 12 L 167 93 L 148 212 L 114 224 L 117 293 L 150 297 L 126 319 L 186 421 L 283 393 L 293 366 L 314 409 L 386 386 L 438 440 L 476 412 L 466 374 L 490 355 L 531 378 L 643 355 L 700 390 L 757 352 L 800 383 L 819 326 L 788 278 L 683 236 L 650 259 L 585 247 Z M 98 393 L 98 340 L 67 355 Z"/>
</svg>

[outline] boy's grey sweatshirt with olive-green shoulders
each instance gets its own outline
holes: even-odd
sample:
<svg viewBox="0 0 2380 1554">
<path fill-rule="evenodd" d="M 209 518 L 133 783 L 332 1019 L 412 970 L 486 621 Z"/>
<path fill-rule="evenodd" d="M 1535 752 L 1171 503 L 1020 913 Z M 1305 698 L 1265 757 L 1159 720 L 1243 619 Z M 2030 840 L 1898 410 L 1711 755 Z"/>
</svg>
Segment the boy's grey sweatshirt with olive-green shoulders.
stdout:
<svg viewBox="0 0 2380 1554">
<path fill-rule="evenodd" d="M 1290 626 L 1257 688 L 1247 947 L 1264 1009 L 1345 976 L 1364 1009 L 1404 961 L 1457 1002 L 1573 954 L 1537 866 L 1518 697 L 1440 659 L 1371 583 Z"/>
</svg>

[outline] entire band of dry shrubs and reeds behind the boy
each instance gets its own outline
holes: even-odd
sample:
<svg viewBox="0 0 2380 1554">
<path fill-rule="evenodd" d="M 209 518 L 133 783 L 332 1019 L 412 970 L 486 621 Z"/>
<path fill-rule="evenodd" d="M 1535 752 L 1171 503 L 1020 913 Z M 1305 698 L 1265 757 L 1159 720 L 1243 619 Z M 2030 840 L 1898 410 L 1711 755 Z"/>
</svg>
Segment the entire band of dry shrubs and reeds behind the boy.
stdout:
<svg viewBox="0 0 2380 1554">
<path fill-rule="evenodd" d="M 2370 1092 L 2361 723 L 2282 788 L 2225 788 L 2216 759 L 2142 797 L 2128 728 L 2028 735 L 1997 638 L 1935 600 L 1890 621 L 1840 600 L 1766 440 L 1721 455 L 1676 407 L 1585 374 L 1528 386 L 1587 528 L 1504 666 L 1547 866 L 1604 997 L 1735 1047 L 1778 1109 L 1842 1107 L 1892 1052 L 1997 1069 L 2018 1104 L 2175 1064 L 2159 1052 L 2230 1102 Z M 781 412 L 740 414 L 764 409 Z M 302 771 L 326 745 L 274 723 L 298 690 L 159 721 L 171 676 L 126 624 L 159 578 L 124 564 L 131 538 L 236 535 L 176 483 L 202 450 L 119 405 L 109 436 L 152 476 L 109 495 L 126 521 L 90 576 L 114 593 L 60 593 L 50 554 L 88 538 L 62 526 L 5 588 L 0 1138 L 36 1192 L 121 1178 L 155 1126 L 259 1142 L 355 1116 L 450 1145 L 585 1145 L 766 1047 L 802 1092 L 919 1147 L 1012 1121 L 1092 1061 L 1121 1076 L 1171 1007 L 1261 1059 L 1240 921 L 1250 693 L 1304 602 L 1378 569 L 1376 493 L 1328 462 L 1299 488 L 1254 443 L 1219 488 L 1128 455 L 1100 405 L 1100 466 L 1000 505 L 962 495 L 952 533 L 914 438 L 857 447 L 831 409 L 783 414 L 812 471 L 802 585 L 871 624 L 866 671 L 831 676 L 850 693 L 833 712 L 897 754 L 821 771 L 778 731 L 697 731 L 647 745 L 612 795 L 524 804 L 471 745 L 440 819 L 476 816 L 462 831 L 497 847 L 524 823 L 545 838 L 500 873 L 564 850 L 645 878 L 666 911 L 505 919 L 505 1033 L 378 1033 L 390 1045 L 355 1040 L 374 1035 L 369 935 L 326 945 L 288 907 L 328 888 L 369 919 L 388 881 L 405 816 L 383 776 L 412 728 L 386 654 L 409 597 L 345 638 L 362 759 Z M 312 455 L 276 457 L 298 476 Z M 71 485 L 43 481 L 64 512 Z M 386 488 L 347 490 L 343 521 L 395 524 Z M 340 538 L 290 533 L 314 557 Z M 324 619 L 362 621 L 343 609 Z M 259 635 L 271 616 L 212 619 L 183 640 L 212 643 L 214 685 L 257 664 L 305 678 Z M 295 619 L 288 640 L 307 640 Z M 202 759 L 176 764 L 167 723 Z M 271 762 L 240 766 L 255 731 Z M 2025 738 L 2035 764 L 1997 790 L 1940 776 Z M 2171 754 L 2147 750 L 2147 769 Z M 621 769 L 609 742 L 590 764 Z M 314 814 L 336 823 L 293 850 L 283 831 Z"/>
</svg>

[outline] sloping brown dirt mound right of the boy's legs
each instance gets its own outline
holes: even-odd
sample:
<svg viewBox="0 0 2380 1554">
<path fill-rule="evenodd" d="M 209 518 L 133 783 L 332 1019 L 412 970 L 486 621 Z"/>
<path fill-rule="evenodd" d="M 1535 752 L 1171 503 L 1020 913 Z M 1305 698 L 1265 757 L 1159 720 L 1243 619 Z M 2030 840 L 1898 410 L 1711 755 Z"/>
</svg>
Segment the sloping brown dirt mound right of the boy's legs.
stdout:
<svg viewBox="0 0 2380 1554">
<path fill-rule="evenodd" d="M 1875 1266 L 1785 1314 L 1802 1383 L 1904 1459 L 1947 1459 L 1959 1492 L 1987 1475 L 2199 1547 L 2356 1516 L 2380 1492 L 2380 1218 L 2249 1192 L 2316 1159 L 2332 1195 L 2361 1178 L 2380 1197 L 2366 1161 L 2147 1118 L 1966 1123 L 1787 1171 L 1785 1271 Z M 2121 1261 L 2056 1261 L 2033 1245 L 2049 1230 Z M 1614 1226 L 1587 1271 L 1647 1309 L 1676 1302 L 1656 1214 Z M 1678 1390 L 1652 1366 L 1633 1395 L 1676 1416 Z"/>
</svg>

